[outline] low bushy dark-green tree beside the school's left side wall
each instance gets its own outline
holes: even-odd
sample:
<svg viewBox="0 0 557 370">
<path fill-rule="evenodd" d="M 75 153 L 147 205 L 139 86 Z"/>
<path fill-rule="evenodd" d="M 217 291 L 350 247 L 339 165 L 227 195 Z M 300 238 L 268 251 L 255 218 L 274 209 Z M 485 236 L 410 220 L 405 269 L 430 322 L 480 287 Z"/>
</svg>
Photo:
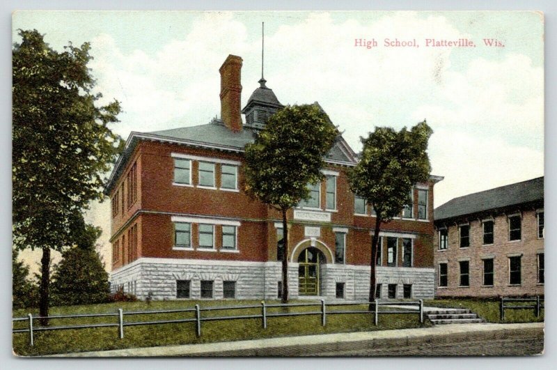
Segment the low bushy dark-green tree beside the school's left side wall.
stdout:
<svg viewBox="0 0 557 370">
<path fill-rule="evenodd" d="M 79 244 L 62 253 L 52 275 L 54 305 L 90 305 L 107 302 L 109 275 L 104 270 L 95 242 L 101 229 L 86 225 Z"/>
</svg>

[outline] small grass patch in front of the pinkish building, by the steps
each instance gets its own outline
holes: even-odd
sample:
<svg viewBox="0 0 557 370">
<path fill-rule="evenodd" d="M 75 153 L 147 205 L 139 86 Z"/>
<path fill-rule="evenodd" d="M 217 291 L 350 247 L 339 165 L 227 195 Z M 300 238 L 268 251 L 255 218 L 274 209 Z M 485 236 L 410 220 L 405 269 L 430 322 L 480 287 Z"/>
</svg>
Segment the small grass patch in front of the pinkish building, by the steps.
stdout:
<svg viewBox="0 0 557 370">
<path fill-rule="evenodd" d="M 450 307 L 470 309 L 488 323 L 535 323 L 544 321 L 544 310 L 540 317 L 535 317 L 533 309 L 505 309 L 505 320 L 500 320 L 499 302 L 497 299 L 437 299 L 427 300 L 423 304 L 431 307 Z M 507 305 L 534 305 L 533 302 L 505 302 Z"/>
</svg>

